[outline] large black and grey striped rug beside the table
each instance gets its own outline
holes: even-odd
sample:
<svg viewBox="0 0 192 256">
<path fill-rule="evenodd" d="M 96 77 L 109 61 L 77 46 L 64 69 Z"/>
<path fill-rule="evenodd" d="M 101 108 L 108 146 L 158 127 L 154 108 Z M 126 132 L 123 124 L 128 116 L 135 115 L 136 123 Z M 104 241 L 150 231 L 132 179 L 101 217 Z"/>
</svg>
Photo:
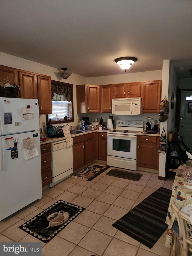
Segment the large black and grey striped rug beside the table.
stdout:
<svg viewBox="0 0 192 256">
<path fill-rule="evenodd" d="M 159 188 L 112 226 L 151 249 L 168 227 L 165 219 L 171 192 Z"/>
</svg>

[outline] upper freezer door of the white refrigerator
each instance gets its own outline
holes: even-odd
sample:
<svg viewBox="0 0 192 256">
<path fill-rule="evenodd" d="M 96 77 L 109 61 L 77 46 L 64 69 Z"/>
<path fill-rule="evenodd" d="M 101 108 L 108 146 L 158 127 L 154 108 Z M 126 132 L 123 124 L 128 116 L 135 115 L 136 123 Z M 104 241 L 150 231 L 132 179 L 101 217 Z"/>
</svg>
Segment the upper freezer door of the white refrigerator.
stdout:
<svg viewBox="0 0 192 256">
<path fill-rule="evenodd" d="M 27 108 L 28 105 L 30 108 L 25 109 L 26 114 L 22 115 L 22 107 Z M 1 97 L 0 106 L 0 134 L 39 130 L 38 100 Z M 27 112 L 34 112 L 34 114 L 27 115 Z M 34 118 L 28 119 L 28 117 Z"/>
</svg>

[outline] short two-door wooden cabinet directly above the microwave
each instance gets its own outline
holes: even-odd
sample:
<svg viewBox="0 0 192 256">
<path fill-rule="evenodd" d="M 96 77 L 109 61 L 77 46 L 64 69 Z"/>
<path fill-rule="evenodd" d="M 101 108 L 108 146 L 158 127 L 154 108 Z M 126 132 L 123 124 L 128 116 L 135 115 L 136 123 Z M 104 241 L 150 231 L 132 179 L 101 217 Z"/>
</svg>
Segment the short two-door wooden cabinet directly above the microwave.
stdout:
<svg viewBox="0 0 192 256">
<path fill-rule="evenodd" d="M 113 92 L 113 98 L 141 97 L 141 82 L 114 84 Z"/>
</svg>

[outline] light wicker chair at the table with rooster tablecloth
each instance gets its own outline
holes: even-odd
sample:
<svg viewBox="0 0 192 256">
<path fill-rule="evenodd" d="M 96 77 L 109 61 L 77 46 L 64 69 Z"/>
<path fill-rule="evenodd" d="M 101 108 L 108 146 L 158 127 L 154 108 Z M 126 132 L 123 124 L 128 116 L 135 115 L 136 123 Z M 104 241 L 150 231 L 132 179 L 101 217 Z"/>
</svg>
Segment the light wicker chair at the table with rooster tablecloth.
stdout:
<svg viewBox="0 0 192 256">
<path fill-rule="evenodd" d="M 192 252 L 192 225 L 189 215 L 179 210 L 174 201 L 171 201 L 171 206 L 176 215 L 179 225 L 179 235 L 175 235 L 172 255 L 176 255 L 176 240 L 180 242 L 180 252 L 182 256 L 188 256 L 188 252 Z"/>
</svg>

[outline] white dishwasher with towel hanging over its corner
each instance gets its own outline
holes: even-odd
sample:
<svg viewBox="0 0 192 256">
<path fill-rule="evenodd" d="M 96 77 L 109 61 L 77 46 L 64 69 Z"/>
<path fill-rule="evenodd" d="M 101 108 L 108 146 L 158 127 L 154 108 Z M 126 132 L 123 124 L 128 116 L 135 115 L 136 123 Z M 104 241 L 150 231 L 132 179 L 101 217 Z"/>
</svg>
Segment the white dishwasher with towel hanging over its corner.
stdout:
<svg viewBox="0 0 192 256">
<path fill-rule="evenodd" d="M 73 146 L 67 147 L 66 140 L 51 143 L 52 183 L 56 185 L 73 173 Z"/>
</svg>

